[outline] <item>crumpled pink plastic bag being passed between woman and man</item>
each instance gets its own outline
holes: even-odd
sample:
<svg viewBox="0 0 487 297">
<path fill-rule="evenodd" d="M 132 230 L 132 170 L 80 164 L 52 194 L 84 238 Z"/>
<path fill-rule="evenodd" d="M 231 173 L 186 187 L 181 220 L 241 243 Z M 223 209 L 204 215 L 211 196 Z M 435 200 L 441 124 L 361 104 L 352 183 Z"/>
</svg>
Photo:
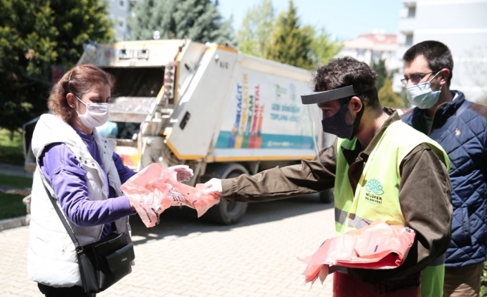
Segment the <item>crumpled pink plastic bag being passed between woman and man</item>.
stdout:
<svg viewBox="0 0 487 297">
<path fill-rule="evenodd" d="M 157 225 L 159 215 L 171 206 L 188 206 L 202 216 L 219 202 L 215 196 L 203 195 L 203 188 L 203 184 L 191 187 L 179 183 L 177 172 L 158 163 L 148 165 L 121 186 L 146 227 Z"/>
</svg>

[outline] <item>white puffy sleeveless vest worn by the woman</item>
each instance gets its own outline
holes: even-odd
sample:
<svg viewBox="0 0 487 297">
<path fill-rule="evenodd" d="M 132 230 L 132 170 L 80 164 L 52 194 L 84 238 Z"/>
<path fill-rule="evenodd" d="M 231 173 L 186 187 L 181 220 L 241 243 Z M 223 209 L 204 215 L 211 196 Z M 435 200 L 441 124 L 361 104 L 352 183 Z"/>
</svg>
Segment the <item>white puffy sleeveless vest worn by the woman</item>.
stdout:
<svg viewBox="0 0 487 297">
<path fill-rule="evenodd" d="M 118 196 L 122 196 L 121 181 L 112 159 L 114 144 L 106 139 L 101 139 L 96 130 L 93 131 L 93 134 L 103 159 L 103 167 L 108 175 L 108 183 L 115 189 Z M 81 137 L 62 119 L 52 114 L 43 114 L 37 122 L 32 136 L 32 151 L 37 161 L 39 161 L 44 147 L 51 143 L 65 143 L 86 170 L 90 200 L 108 199 L 108 186 L 104 183 L 101 167 L 92 158 Z M 30 279 L 35 282 L 52 287 L 81 285 L 74 244 L 43 187 L 41 174 L 41 170 L 37 167 L 34 172 L 30 204 L 28 274 Z M 50 185 L 47 187 L 53 194 Z M 57 205 L 61 209 L 59 202 Z M 101 238 L 103 225 L 79 227 L 69 220 L 67 221 L 80 245 L 88 245 Z M 117 232 L 125 232 L 131 242 L 128 217 L 115 221 L 115 224 Z"/>
</svg>

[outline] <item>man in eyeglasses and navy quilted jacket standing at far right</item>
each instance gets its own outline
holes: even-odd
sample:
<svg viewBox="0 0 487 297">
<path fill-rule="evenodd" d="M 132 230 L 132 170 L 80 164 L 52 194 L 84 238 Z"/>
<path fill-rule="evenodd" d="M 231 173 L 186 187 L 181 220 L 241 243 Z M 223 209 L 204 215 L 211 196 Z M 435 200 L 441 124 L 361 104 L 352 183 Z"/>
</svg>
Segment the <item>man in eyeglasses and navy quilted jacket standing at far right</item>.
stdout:
<svg viewBox="0 0 487 297">
<path fill-rule="evenodd" d="M 443 43 L 417 43 L 403 59 L 401 81 L 416 107 L 402 120 L 437 141 L 451 161 L 452 240 L 443 296 L 479 296 L 487 253 L 487 107 L 450 90 L 453 59 Z"/>
</svg>

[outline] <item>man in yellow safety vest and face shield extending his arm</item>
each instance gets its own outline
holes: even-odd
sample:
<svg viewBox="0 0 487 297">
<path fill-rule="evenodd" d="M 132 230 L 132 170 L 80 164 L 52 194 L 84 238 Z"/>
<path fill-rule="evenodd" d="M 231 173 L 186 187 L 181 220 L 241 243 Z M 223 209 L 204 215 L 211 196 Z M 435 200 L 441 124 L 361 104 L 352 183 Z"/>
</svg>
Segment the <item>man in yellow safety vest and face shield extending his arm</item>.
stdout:
<svg viewBox="0 0 487 297">
<path fill-rule="evenodd" d="M 419 296 L 420 289 L 422 296 L 441 296 L 444 265 L 428 265 L 450 243 L 450 161 L 438 143 L 381 107 L 376 79 L 366 63 L 350 57 L 317 68 L 314 92 L 301 96 L 317 132 L 317 157 L 253 176 L 212 178 L 206 192 L 261 202 L 335 187 L 337 234 L 378 218 L 416 232 L 396 269 L 335 272 L 335 296 Z M 335 143 L 326 147 L 323 132 L 335 134 Z"/>
</svg>

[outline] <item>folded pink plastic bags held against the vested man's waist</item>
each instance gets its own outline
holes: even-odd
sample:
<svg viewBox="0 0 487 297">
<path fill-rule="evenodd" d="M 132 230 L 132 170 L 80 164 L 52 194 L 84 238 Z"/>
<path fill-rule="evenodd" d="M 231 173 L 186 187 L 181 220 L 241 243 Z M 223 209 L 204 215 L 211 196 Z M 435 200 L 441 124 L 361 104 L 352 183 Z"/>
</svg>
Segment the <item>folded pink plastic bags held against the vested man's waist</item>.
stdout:
<svg viewBox="0 0 487 297">
<path fill-rule="evenodd" d="M 413 229 L 377 220 L 368 227 L 326 240 L 313 254 L 299 260 L 308 264 L 306 283 L 324 282 L 328 274 L 343 267 L 392 269 L 399 267 L 415 240 Z"/>
</svg>

